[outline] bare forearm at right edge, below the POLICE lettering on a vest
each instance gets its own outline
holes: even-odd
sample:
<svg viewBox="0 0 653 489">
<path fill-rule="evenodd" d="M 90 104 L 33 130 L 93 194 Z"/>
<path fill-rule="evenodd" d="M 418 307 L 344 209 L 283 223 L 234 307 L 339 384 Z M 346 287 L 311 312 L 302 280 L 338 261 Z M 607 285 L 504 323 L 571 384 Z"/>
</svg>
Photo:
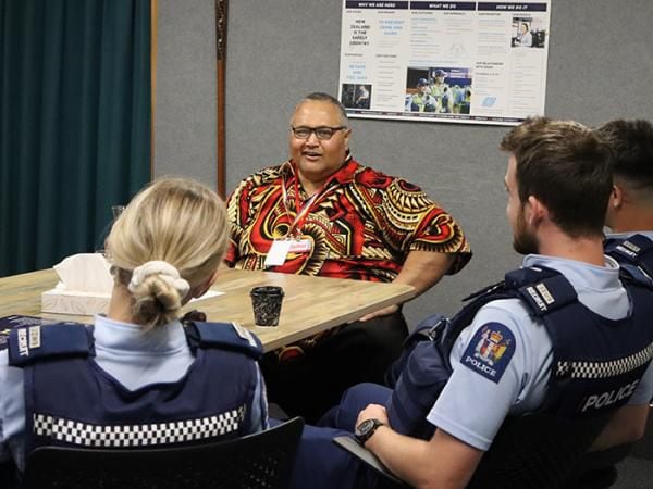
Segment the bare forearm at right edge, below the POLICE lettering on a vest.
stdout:
<svg viewBox="0 0 653 489">
<path fill-rule="evenodd" d="M 632 443 L 639 440 L 644 436 L 650 410 L 649 404 L 619 408 L 599 438 L 594 440 L 590 451 L 606 450 L 617 444 Z"/>
</svg>

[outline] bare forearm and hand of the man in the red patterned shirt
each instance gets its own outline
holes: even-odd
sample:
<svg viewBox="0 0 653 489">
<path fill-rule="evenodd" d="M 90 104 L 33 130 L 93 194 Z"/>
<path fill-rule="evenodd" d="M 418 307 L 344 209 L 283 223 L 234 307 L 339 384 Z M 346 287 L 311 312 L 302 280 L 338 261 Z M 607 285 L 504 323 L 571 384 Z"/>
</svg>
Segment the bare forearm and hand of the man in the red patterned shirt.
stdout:
<svg viewBox="0 0 653 489">
<path fill-rule="evenodd" d="M 416 296 L 429 290 L 446 274 L 454 263 L 456 253 L 441 253 L 436 251 L 410 251 L 406 256 L 402 272 L 393 280 L 393 284 L 407 284 L 415 288 Z M 359 321 L 368 321 L 372 317 L 393 314 L 399 309 L 393 304 L 373 313 L 366 314 Z"/>
</svg>

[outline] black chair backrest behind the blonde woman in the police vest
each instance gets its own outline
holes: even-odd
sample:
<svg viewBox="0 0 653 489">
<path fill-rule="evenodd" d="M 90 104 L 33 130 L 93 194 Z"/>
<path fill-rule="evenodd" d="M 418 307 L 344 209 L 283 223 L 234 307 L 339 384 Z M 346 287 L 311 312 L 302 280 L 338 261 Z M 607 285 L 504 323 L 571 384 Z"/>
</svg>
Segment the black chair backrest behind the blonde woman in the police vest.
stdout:
<svg viewBox="0 0 653 489">
<path fill-rule="evenodd" d="M 24 489 L 272 489 L 286 486 L 304 421 L 195 447 L 103 450 L 44 447 L 26 460 Z"/>
</svg>

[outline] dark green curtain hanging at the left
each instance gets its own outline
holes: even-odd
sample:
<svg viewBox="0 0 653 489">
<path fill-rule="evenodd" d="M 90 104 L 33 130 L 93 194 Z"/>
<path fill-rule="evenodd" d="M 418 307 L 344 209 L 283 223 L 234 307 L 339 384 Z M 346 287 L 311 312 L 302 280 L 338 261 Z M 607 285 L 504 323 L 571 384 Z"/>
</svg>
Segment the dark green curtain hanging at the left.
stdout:
<svg viewBox="0 0 653 489">
<path fill-rule="evenodd" d="M 103 248 L 150 105 L 150 0 L 0 0 L 0 276 Z"/>
</svg>

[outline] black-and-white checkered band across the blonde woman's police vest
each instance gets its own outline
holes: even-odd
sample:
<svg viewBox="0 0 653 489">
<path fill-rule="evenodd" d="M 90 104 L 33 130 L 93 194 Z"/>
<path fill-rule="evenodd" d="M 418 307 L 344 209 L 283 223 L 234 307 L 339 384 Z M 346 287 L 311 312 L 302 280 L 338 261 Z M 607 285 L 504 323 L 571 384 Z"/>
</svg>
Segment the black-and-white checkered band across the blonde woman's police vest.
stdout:
<svg viewBox="0 0 653 489">
<path fill-rule="evenodd" d="M 34 414 L 34 434 L 83 447 L 152 447 L 217 438 L 236 431 L 245 405 L 213 416 L 145 425 L 91 425 L 64 417 Z"/>
</svg>

